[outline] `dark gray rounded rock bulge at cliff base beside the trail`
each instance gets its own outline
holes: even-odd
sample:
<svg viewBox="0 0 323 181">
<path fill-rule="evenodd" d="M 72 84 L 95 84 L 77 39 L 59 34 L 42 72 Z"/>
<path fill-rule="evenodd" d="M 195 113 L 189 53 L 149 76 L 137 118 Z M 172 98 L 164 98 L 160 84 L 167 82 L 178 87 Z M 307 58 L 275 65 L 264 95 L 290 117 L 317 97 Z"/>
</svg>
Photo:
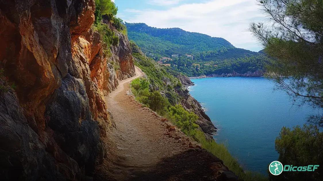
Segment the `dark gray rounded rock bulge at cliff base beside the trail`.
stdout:
<svg viewBox="0 0 323 181">
<path fill-rule="evenodd" d="M 87 175 L 92 174 L 103 148 L 98 122 L 92 119 L 82 80 L 68 74 L 55 91 L 54 101 L 48 104 L 45 116 L 56 143 L 79 167 L 85 168 Z"/>
</svg>

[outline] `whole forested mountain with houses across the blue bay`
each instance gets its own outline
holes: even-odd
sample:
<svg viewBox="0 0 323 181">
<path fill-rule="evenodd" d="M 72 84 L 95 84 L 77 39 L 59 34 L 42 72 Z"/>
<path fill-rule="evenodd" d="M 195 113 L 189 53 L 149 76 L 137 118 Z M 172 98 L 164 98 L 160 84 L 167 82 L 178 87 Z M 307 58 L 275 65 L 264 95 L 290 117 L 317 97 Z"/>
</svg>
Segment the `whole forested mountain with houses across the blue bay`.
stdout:
<svg viewBox="0 0 323 181">
<path fill-rule="evenodd" d="M 192 33 L 180 28 L 155 28 L 126 23 L 128 36 L 147 56 L 187 76 L 262 76 L 270 61 L 261 52 L 235 48 L 224 38 Z M 172 57 L 172 55 L 179 55 Z M 187 56 L 187 55 L 192 55 Z"/>
</svg>

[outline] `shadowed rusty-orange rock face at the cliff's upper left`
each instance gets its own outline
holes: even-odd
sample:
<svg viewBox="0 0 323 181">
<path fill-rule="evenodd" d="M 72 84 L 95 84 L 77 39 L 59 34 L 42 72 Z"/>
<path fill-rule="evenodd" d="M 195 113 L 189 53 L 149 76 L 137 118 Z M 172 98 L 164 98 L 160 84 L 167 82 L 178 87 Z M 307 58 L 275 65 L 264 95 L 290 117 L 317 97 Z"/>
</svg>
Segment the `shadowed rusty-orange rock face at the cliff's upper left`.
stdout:
<svg viewBox="0 0 323 181">
<path fill-rule="evenodd" d="M 12 1 L 1 5 L 0 23 L 5 28 L 0 38 L 8 43 L 0 47 L 0 61 L 15 83 L 19 101 L 35 131 L 45 129 L 46 103 L 68 72 L 70 38 L 85 34 L 94 21 L 93 0 L 82 4 L 82 9 L 72 8 L 71 12 L 59 5 L 58 9 L 46 1 Z M 68 13 L 70 19 L 66 17 Z"/>
</svg>

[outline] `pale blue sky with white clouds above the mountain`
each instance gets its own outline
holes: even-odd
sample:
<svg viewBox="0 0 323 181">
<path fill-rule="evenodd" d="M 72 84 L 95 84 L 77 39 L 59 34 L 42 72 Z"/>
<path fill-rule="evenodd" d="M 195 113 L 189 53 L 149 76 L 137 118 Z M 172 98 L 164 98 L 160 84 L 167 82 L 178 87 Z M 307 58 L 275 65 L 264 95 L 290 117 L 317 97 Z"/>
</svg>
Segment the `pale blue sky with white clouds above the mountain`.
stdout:
<svg viewBox="0 0 323 181">
<path fill-rule="evenodd" d="M 114 0 L 117 16 L 128 23 L 157 28 L 179 27 L 222 37 L 237 48 L 259 51 L 262 46 L 248 32 L 251 22 L 264 21 L 256 0 Z"/>
</svg>

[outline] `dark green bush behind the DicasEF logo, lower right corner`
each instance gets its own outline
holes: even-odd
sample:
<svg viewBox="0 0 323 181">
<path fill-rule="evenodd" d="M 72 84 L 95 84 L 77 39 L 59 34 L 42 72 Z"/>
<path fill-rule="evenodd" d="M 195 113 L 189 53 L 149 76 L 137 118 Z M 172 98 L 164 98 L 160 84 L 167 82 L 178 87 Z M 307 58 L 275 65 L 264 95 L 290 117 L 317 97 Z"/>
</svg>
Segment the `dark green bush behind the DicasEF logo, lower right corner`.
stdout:
<svg viewBox="0 0 323 181">
<path fill-rule="evenodd" d="M 275 141 L 278 161 L 294 166 L 323 165 L 323 133 L 317 126 L 283 127 Z M 315 172 L 284 172 L 271 180 L 323 180 L 323 168 Z M 270 175 L 270 174 L 269 174 Z"/>
</svg>

